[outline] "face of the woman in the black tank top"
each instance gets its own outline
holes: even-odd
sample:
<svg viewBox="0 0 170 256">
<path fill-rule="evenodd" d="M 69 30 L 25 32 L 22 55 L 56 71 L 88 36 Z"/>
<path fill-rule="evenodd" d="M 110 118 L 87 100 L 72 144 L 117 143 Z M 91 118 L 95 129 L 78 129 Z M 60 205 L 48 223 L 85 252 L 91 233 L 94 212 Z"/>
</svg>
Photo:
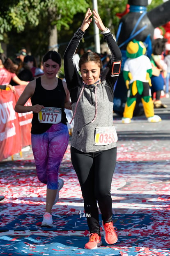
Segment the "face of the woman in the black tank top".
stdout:
<svg viewBox="0 0 170 256">
<path fill-rule="evenodd" d="M 56 77 L 60 66 L 57 62 L 52 61 L 52 59 L 48 59 L 43 63 L 43 68 L 44 75 L 46 75 L 47 78 L 54 78 Z"/>
</svg>

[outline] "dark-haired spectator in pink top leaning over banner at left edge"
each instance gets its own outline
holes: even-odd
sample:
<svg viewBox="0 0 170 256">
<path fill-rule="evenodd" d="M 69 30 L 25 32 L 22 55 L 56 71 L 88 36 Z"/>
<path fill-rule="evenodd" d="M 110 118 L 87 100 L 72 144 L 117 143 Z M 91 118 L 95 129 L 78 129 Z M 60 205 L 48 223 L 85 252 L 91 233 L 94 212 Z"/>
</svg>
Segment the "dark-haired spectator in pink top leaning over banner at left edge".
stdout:
<svg viewBox="0 0 170 256">
<path fill-rule="evenodd" d="M 16 75 L 16 67 L 11 59 L 7 58 L 5 54 L 0 54 L 0 85 L 8 86 L 11 80 L 16 85 L 27 85 L 28 82 L 20 80 Z M 13 89 L 14 90 L 14 89 Z"/>
</svg>

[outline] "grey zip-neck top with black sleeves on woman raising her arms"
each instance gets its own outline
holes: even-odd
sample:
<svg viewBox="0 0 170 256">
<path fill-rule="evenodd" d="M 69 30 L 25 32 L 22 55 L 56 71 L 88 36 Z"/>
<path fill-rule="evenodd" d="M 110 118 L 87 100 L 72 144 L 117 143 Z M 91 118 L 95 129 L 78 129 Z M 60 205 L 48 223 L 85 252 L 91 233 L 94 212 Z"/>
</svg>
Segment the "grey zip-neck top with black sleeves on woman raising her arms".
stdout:
<svg viewBox="0 0 170 256">
<path fill-rule="evenodd" d="M 116 147 L 116 143 L 94 145 L 96 127 L 113 127 L 113 87 L 118 76 L 111 76 L 113 61 L 121 61 L 122 54 L 109 32 L 104 34 L 112 54 L 110 63 L 96 85 L 84 85 L 73 56 L 85 32 L 74 34 L 64 53 L 64 73 L 70 91 L 74 116 L 71 146 L 82 152 L 96 152 Z M 76 108 L 76 111 L 75 111 Z"/>
</svg>

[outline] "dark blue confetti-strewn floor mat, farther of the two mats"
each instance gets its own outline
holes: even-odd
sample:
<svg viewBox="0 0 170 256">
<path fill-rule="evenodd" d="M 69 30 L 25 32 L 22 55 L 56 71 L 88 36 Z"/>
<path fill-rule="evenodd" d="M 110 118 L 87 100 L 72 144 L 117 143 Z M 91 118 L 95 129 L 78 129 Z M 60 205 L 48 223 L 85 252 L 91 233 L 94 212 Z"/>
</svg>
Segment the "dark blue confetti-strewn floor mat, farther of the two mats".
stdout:
<svg viewBox="0 0 170 256">
<path fill-rule="evenodd" d="M 8 223 L 4 223 L 9 219 Z M 11 221 L 10 221 L 11 220 Z M 101 224 L 101 214 L 99 215 Z M 15 231 L 68 231 L 68 230 L 88 230 L 87 220 L 80 215 L 55 215 L 53 216 L 53 228 L 41 227 L 42 216 L 36 214 L 22 214 L 19 216 L 0 216 L 0 232 Z M 142 228 L 144 225 L 150 225 L 154 222 L 154 217 L 149 214 L 119 214 L 113 217 L 114 226 L 117 230 Z"/>
</svg>

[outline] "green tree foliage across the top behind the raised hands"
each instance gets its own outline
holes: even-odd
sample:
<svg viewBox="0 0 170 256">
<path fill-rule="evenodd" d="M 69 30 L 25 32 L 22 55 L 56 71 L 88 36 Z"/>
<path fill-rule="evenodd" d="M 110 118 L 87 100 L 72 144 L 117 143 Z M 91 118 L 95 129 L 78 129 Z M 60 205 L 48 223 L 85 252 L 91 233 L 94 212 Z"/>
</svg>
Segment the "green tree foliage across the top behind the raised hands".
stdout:
<svg viewBox="0 0 170 256">
<path fill-rule="evenodd" d="M 119 24 L 116 14 L 124 12 L 127 3 L 128 0 L 98 0 L 98 12 L 113 34 L 117 33 Z M 162 3 L 162 0 L 152 0 L 147 9 Z M 48 50 L 51 28 L 56 26 L 59 50 L 63 54 L 88 7 L 93 9 L 92 0 L 1 0 L 0 41 L 7 43 L 9 56 L 21 46 L 33 55 L 42 56 Z M 90 26 L 85 41 L 81 42 L 83 47 L 94 43 L 93 33 Z"/>
</svg>

